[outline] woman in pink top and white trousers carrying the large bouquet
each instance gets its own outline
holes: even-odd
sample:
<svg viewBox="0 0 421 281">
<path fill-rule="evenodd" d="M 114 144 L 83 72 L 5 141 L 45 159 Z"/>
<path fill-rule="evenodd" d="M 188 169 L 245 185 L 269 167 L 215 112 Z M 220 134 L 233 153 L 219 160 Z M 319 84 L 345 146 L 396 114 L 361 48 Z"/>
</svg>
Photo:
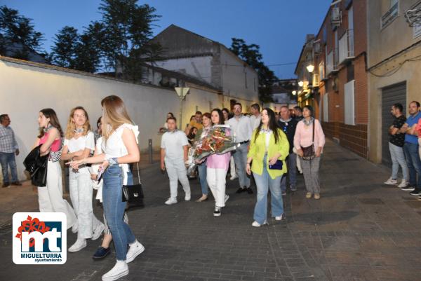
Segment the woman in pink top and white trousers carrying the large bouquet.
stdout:
<svg viewBox="0 0 421 281">
<path fill-rule="evenodd" d="M 224 124 L 224 115 L 220 109 L 213 109 L 210 115 L 213 125 Z M 206 179 L 213 198 L 215 198 L 215 210 L 213 212 L 215 217 L 220 217 L 221 208 L 225 207 L 225 203 L 229 198 L 225 194 L 225 177 L 227 177 L 230 157 L 231 153 L 227 152 L 224 154 L 212 154 L 206 160 Z"/>
</svg>

